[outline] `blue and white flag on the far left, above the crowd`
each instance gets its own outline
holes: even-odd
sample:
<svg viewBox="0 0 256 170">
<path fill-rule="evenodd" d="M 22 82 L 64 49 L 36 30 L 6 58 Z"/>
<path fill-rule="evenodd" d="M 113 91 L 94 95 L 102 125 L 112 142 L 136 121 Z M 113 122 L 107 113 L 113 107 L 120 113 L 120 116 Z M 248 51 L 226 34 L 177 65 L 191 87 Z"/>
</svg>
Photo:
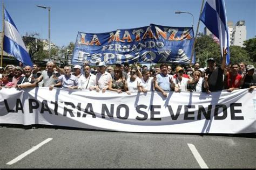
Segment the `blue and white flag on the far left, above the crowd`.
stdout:
<svg viewBox="0 0 256 170">
<path fill-rule="evenodd" d="M 32 67 L 33 63 L 22 37 L 6 9 L 4 9 L 4 51 L 15 56 L 24 65 Z"/>
</svg>

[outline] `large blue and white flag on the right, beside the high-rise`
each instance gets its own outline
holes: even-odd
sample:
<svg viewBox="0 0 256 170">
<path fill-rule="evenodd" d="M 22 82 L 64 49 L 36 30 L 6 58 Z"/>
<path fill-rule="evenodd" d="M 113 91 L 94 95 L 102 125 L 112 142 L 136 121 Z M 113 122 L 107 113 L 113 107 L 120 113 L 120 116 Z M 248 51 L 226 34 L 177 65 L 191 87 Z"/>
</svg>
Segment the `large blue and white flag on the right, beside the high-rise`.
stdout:
<svg viewBox="0 0 256 170">
<path fill-rule="evenodd" d="M 228 30 L 224 0 L 206 0 L 200 20 L 214 36 L 219 38 L 221 56 L 226 50 L 226 64 L 230 63 L 230 49 L 228 45 Z"/>
</svg>

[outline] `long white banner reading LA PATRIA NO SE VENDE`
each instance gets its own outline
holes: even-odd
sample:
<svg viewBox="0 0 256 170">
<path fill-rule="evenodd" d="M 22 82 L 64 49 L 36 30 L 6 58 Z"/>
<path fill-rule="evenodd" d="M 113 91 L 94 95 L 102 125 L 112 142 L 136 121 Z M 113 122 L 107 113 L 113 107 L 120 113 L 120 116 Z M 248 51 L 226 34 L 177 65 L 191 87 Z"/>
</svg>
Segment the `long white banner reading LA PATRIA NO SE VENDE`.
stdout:
<svg viewBox="0 0 256 170">
<path fill-rule="evenodd" d="M 0 90 L 0 124 L 171 133 L 255 133 L 256 90 L 105 93 L 55 88 Z"/>
</svg>

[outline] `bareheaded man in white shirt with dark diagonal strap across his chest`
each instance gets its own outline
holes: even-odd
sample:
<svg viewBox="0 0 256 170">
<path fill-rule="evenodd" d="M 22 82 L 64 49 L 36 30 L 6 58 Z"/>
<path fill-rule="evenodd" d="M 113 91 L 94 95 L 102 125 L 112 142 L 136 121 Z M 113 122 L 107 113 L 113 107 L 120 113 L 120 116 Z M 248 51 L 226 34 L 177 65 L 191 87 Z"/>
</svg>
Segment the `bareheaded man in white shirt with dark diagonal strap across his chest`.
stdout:
<svg viewBox="0 0 256 170">
<path fill-rule="evenodd" d="M 96 75 L 91 74 L 91 67 L 84 66 L 84 74 L 78 79 L 78 89 L 90 89 L 96 86 Z"/>
</svg>

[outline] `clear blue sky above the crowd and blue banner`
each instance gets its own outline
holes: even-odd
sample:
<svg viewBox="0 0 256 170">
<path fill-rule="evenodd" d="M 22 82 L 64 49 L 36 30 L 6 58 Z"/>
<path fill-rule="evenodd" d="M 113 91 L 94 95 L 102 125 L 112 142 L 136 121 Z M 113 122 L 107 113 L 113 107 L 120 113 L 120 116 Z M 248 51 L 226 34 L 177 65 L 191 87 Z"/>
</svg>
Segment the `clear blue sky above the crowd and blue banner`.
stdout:
<svg viewBox="0 0 256 170">
<path fill-rule="evenodd" d="M 1 1 L 3 2 L 3 1 Z M 48 39 L 48 9 L 51 7 L 51 42 L 57 46 L 75 42 L 77 32 L 103 33 L 117 29 L 158 24 L 164 26 L 191 26 L 194 16 L 196 33 L 202 0 L 4 0 L 6 10 L 19 33 L 39 33 Z M 256 1 L 225 0 L 228 21 L 245 20 L 247 38 L 256 35 Z M 2 16 L 2 15 L 1 15 Z M 1 23 L 2 28 L 2 23 Z M 199 32 L 204 24 L 200 22 Z M 1 29 L 2 30 L 2 29 Z"/>
</svg>

